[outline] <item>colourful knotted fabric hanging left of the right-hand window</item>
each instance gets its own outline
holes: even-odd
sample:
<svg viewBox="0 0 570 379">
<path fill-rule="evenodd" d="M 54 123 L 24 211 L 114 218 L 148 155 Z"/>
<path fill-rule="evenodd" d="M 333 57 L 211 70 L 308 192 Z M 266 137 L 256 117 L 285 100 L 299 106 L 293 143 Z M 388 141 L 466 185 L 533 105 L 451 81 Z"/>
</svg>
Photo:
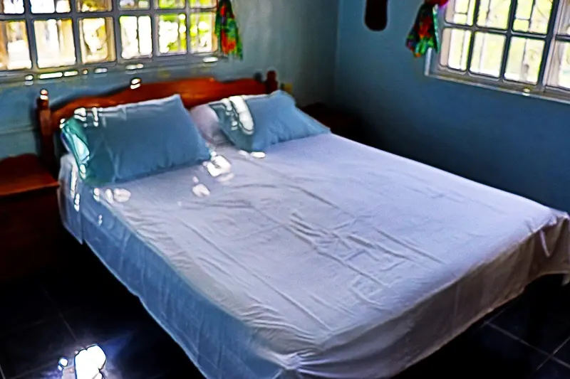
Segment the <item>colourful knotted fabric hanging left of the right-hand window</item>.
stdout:
<svg viewBox="0 0 570 379">
<path fill-rule="evenodd" d="M 440 50 L 440 36 L 437 30 L 437 9 L 445 6 L 449 0 L 425 0 L 420 6 L 418 17 L 408 34 L 406 46 L 416 57 L 420 57 L 427 53 L 429 48 L 435 51 Z"/>
</svg>

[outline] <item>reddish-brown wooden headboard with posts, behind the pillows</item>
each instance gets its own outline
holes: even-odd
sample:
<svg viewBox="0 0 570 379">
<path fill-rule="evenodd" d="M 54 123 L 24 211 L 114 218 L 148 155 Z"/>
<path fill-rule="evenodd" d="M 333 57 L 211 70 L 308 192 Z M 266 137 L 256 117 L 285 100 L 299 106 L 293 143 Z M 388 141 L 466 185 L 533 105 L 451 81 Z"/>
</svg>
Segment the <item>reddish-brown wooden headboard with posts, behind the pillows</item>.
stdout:
<svg viewBox="0 0 570 379">
<path fill-rule="evenodd" d="M 234 95 L 262 95 L 271 93 L 279 87 L 275 71 L 269 71 L 265 81 L 256 79 L 240 79 L 231 82 L 219 82 L 214 78 L 191 78 L 171 82 L 142 83 L 138 78 L 130 81 L 130 85 L 120 92 L 112 94 L 79 97 L 65 104 L 51 107 L 47 90 L 41 90 L 37 105 L 38 124 L 41 132 L 40 156 L 48 169 L 56 174 L 57 162 L 53 135 L 58 131 L 61 119 L 73 115 L 77 108 L 112 107 L 114 105 L 161 99 L 180 94 L 185 107 L 190 109 L 224 97 Z"/>
</svg>

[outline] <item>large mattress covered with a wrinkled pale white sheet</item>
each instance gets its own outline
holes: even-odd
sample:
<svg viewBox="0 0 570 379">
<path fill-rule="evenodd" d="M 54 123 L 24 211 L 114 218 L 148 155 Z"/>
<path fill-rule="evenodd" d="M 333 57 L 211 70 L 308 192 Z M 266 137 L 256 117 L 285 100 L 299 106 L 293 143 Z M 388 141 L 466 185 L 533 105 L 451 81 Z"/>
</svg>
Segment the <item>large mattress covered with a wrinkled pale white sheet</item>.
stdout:
<svg viewBox="0 0 570 379">
<path fill-rule="evenodd" d="M 68 230 L 207 378 L 389 378 L 570 272 L 566 213 L 415 161 L 329 134 L 217 154 L 60 175 Z"/>
</svg>

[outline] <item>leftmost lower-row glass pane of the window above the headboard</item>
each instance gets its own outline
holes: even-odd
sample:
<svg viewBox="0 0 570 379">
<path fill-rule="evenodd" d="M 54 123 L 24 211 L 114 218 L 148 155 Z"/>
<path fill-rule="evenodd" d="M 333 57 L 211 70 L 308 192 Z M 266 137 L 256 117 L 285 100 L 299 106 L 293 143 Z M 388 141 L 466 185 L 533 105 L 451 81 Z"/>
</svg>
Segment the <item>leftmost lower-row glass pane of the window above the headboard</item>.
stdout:
<svg viewBox="0 0 570 379">
<path fill-rule="evenodd" d="M 0 70 L 31 68 L 25 21 L 0 21 Z"/>
</svg>

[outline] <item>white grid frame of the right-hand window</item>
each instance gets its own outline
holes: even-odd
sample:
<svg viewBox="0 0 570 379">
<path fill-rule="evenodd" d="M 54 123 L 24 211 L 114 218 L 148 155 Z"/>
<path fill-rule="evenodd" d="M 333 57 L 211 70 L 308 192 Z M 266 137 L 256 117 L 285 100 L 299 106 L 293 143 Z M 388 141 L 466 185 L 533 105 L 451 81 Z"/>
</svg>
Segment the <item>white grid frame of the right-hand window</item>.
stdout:
<svg viewBox="0 0 570 379">
<path fill-rule="evenodd" d="M 564 6 L 565 5 L 564 1 L 567 1 L 566 8 Z M 517 0 L 512 0 L 511 7 L 509 10 L 509 21 L 508 21 L 507 30 L 477 26 L 477 14 L 479 12 L 479 7 L 480 7 L 480 0 L 475 0 L 475 11 L 473 14 L 472 25 L 457 25 L 455 23 L 448 23 L 447 21 L 445 21 L 445 11 L 441 10 L 439 14 L 439 26 L 440 26 L 439 31 L 442 43 L 443 43 L 442 41 L 443 30 L 447 27 L 463 29 L 465 31 L 471 31 L 470 47 L 467 58 L 467 70 L 465 70 L 465 73 L 459 70 L 452 70 L 451 68 L 447 68 L 440 65 L 439 54 L 435 53 L 430 49 L 430 51 L 426 55 L 427 58 L 425 60 L 425 75 L 441 80 L 458 82 L 467 85 L 475 85 L 477 87 L 484 87 L 492 90 L 499 90 L 502 92 L 524 95 L 527 97 L 537 97 L 541 99 L 554 100 L 556 102 L 564 102 L 566 104 L 570 104 L 570 89 L 565 90 L 561 87 L 553 87 L 551 85 L 548 85 L 546 82 L 546 79 L 549 78 L 549 75 L 554 74 L 554 71 L 557 70 L 557 65 L 559 65 L 559 62 L 557 62 L 555 59 L 556 56 L 555 56 L 554 42 L 555 41 L 570 42 L 570 36 L 565 36 L 557 33 L 557 31 L 559 30 L 559 25 L 563 20 L 562 16 L 564 12 L 566 11 L 570 14 L 570 1 L 569 0 L 552 1 L 551 15 L 546 34 L 513 31 L 513 23 L 515 19 L 514 15 L 517 10 Z M 499 78 L 489 77 L 484 74 L 472 73 L 470 71 L 470 64 L 472 59 L 472 52 L 473 52 L 476 31 L 502 34 L 507 38 L 504 44 L 504 51 L 502 56 Z M 504 79 L 504 72 L 507 66 L 509 46 L 511 38 L 513 36 L 518 36 L 522 38 L 532 38 L 544 41 L 544 50 L 542 53 L 539 78 L 536 85 L 524 82 L 514 82 L 511 80 Z"/>
</svg>

